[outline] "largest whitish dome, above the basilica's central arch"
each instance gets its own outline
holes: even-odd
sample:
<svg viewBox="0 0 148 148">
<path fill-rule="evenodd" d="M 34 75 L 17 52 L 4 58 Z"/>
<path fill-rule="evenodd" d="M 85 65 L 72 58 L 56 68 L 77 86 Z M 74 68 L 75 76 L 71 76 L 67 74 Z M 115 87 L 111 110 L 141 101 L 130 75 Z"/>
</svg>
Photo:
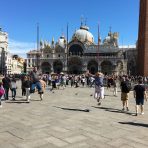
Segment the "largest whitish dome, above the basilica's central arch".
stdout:
<svg viewBox="0 0 148 148">
<path fill-rule="evenodd" d="M 77 38 L 81 42 L 94 43 L 94 37 L 88 30 L 89 28 L 87 26 L 81 26 L 80 29 L 74 33 L 72 38 Z"/>
</svg>

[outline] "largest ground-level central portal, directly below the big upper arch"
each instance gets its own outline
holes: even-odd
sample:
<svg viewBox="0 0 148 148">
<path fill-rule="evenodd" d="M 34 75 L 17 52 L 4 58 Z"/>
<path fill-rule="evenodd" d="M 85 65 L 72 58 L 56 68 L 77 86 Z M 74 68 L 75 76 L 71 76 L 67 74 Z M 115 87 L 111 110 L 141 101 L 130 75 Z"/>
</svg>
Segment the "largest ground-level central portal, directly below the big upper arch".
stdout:
<svg viewBox="0 0 148 148">
<path fill-rule="evenodd" d="M 70 74 L 81 74 L 82 73 L 82 61 L 79 57 L 72 57 L 68 61 L 68 72 Z"/>
</svg>

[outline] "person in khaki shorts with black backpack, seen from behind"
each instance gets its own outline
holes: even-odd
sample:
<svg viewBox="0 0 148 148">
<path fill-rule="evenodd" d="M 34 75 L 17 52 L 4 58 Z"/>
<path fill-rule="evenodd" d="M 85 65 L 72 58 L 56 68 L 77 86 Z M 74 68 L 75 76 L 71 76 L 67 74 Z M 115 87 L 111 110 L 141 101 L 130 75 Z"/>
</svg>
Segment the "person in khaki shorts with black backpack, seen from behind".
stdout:
<svg viewBox="0 0 148 148">
<path fill-rule="evenodd" d="M 129 92 L 131 90 L 131 83 L 128 80 L 127 76 L 124 76 L 122 78 L 121 84 L 120 84 L 120 88 L 121 88 L 121 101 L 122 101 L 122 111 L 126 110 L 129 111 L 128 108 L 128 99 L 129 99 Z"/>
</svg>

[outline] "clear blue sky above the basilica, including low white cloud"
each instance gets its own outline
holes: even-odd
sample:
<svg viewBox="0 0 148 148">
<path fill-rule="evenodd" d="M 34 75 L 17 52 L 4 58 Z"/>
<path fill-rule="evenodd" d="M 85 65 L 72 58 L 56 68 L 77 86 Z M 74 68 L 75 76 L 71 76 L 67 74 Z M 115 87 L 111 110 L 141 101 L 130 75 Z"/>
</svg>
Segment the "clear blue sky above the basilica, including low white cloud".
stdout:
<svg viewBox="0 0 148 148">
<path fill-rule="evenodd" d="M 97 42 L 100 24 L 101 38 L 107 36 L 110 26 L 119 32 L 120 45 L 133 45 L 138 37 L 139 0 L 0 0 L 0 26 L 9 34 L 10 50 L 24 54 L 36 48 L 36 26 L 40 38 L 55 41 L 69 24 L 69 39 L 80 27 L 80 18 Z M 10 52 L 11 52 L 10 51 Z"/>
</svg>

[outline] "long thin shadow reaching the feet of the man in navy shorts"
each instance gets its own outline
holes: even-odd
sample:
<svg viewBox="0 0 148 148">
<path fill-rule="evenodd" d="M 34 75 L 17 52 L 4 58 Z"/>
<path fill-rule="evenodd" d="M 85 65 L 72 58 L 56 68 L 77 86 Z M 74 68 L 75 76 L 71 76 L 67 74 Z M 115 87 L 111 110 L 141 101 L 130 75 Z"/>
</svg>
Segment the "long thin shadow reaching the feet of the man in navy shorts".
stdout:
<svg viewBox="0 0 148 148">
<path fill-rule="evenodd" d="M 128 114 L 128 115 L 133 115 L 133 113 L 130 113 L 130 112 L 126 112 L 126 111 L 122 111 L 120 109 L 115 109 L 115 108 L 108 108 L 108 107 L 97 107 L 97 106 L 92 106 L 94 108 L 98 108 L 98 109 L 104 109 L 105 111 L 108 111 L 108 112 L 113 112 L 113 113 L 124 113 L 124 114 Z"/>
</svg>

